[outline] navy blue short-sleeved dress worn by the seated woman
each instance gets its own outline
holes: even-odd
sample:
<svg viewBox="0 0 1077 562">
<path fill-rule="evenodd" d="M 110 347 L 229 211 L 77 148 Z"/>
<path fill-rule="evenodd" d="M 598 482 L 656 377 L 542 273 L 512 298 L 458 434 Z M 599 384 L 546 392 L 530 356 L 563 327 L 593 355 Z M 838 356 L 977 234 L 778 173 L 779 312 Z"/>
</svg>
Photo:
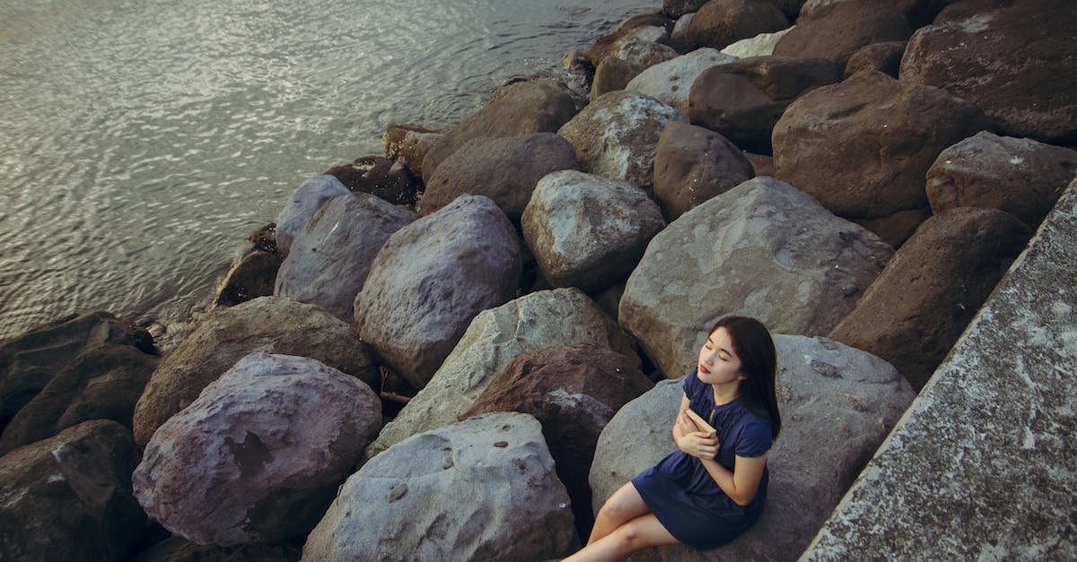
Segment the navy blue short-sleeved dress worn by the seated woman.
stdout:
<svg viewBox="0 0 1077 562">
<path fill-rule="evenodd" d="M 693 411 L 717 431 L 719 449 L 715 459 L 726 468 L 733 469 L 737 455 L 761 456 L 770 449 L 769 420 L 739 398 L 715 406 L 711 385 L 699 380 L 696 369 L 685 377 L 684 394 Z M 767 501 L 769 479 L 769 470 L 764 467 L 755 498 L 740 506 L 718 488 L 699 459 L 679 449 L 633 478 L 632 484 L 677 540 L 709 549 L 732 540 L 755 523 Z"/>
</svg>

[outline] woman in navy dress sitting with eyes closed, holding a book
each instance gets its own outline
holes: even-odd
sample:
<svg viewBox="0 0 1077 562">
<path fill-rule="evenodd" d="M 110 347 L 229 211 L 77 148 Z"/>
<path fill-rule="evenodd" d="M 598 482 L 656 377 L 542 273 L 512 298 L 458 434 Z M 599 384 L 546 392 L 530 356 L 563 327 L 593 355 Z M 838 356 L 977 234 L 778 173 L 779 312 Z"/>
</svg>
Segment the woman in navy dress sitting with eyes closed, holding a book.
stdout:
<svg viewBox="0 0 1077 562">
<path fill-rule="evenodd" d="M 614 492 L 587 546 L 567 560 L 620 560 L 677 543 L 709 549 L 747 530 L 767 500 L 767 451 L 782 426 L 777 363 L 759 321 L 719 320 L 684 380 L 679 450 Z"/>
</svg>

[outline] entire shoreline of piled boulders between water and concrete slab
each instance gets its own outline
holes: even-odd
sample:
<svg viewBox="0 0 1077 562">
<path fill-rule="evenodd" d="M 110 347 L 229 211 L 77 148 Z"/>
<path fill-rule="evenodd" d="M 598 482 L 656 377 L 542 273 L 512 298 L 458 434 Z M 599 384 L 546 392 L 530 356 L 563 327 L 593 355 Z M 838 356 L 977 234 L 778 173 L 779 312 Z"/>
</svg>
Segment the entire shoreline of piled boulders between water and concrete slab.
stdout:
<svg viewBox="0 0 1077 562">
<path fill-rule="evenodd" d="M 672 450 L 677 379 L 739 313 L 779 351 L 767 510 L 633 560 L 796 559 L 1074 181 L 1075 26 L 667 0 L 567 55 L 587 92 L 390 125 L 190 329 L 0 345 L 0 558 L 560 558 Z"/>
</svg>

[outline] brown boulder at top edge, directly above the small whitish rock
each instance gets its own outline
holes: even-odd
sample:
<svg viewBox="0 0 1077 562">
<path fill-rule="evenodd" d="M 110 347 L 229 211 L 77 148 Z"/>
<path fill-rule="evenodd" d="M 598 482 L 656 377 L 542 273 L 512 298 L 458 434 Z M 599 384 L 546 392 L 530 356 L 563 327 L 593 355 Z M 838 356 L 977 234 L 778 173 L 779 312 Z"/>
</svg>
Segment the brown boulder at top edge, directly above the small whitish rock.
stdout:
<svg viewBox="0 0 1077 562">
<path fill-rule="evenodd" d="M 688 23 L 685 39 L 690 48 L 724 48 L 741 39 L 789 27 L 789 20 L 769 0 L 711 0 Z"/>
</svg>

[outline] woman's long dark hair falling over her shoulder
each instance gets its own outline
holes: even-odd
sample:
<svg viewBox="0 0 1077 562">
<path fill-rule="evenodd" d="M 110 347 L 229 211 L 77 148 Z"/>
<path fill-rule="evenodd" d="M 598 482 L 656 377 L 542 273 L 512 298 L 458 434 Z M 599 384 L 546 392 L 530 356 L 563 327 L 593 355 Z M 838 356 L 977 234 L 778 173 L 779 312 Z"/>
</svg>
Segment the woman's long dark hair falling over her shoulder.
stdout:
<svg viewBox="0 0 1077 562">
<path fill-rule="evenodd" d="M 782 431 L 782 418 L 778 412 L 778 393 L 774 379 L 778 376 L 778 353 L 774 340 L 761 322 L 754 318 L 725 317 L 711 326 L 708 336 L 719 327 L 726 328 L 732 341 L 733 352 L 741 360 L 740 396 L 749 409 L 770 418 L 770 435 L 777 439 Z"/>
</svg>

